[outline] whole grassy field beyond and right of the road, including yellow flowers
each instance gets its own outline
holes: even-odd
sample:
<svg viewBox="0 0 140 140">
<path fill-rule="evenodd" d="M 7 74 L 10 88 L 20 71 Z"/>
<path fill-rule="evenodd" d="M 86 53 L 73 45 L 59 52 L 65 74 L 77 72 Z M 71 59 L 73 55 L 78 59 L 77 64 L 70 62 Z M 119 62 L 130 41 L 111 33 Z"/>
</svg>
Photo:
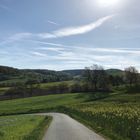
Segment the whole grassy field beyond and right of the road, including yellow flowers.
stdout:
<svg viewBox="0 0 140 140">
<path fill-rule="evenodd" d="M 0 115 L 63 112 L 112 140 L 139 140 L 140 94 L 75 93 L 0 102 Z"/>
</svg>

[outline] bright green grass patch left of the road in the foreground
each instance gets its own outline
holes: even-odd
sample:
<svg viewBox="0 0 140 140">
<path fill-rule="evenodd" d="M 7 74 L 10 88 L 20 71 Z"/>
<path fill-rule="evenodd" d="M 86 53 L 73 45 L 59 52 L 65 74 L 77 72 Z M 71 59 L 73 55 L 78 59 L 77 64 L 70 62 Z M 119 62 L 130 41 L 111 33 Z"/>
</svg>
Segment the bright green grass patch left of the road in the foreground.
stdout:
<svg viewBox="0 0 140 140">
<path fill-rule="evenodd" d="M 41 140 L 43 130 L 50 118 L 44 116 L 4 116 L 0 117 L 1 140 Z M 43 125 L 42 125 L 43 123 Z M 38 133 L 36 133 L 38 130 Z"/>
</svg>

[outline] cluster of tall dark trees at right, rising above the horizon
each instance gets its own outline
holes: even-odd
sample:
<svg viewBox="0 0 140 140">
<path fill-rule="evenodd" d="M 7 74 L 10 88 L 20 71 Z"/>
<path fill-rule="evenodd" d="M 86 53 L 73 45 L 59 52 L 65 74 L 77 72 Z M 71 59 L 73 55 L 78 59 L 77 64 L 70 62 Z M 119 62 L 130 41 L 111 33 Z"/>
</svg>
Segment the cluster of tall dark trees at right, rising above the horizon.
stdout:
<svg viewBox="0 0 140 140">
<path fill-rule="evenodd" d="M 93 90 L 109 90 L 112 86 L 136 86 L 140 82 L 140 74 L 138 70 L 130 66 L 125 68 L 121 75 L 110 75 L 102 66 L 93 65 L 86 67 L 83 74 L 84 81 L 89 84 Z"/>
</svg>

